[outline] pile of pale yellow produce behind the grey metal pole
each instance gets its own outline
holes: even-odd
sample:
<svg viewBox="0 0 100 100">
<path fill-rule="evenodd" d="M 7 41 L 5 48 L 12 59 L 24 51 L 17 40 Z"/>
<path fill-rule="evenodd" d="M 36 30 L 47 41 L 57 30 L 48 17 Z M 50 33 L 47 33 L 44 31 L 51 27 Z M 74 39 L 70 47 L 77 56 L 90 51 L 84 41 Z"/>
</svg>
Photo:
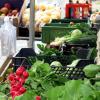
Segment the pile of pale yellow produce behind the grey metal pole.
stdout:
<svg viewBox="0 0 100 100">
<path fill-rule="evenodd" d="M 53 5 L 40 4 L 35 6 L 35 31 L 41 32 L 41 27 L 50 23 L 52 19 L 60 19 L 61 11 L 59 7 Z M 26 8 L 22 15 L 24 26 L 29 25 L 30 8 Z"/>
</svg>

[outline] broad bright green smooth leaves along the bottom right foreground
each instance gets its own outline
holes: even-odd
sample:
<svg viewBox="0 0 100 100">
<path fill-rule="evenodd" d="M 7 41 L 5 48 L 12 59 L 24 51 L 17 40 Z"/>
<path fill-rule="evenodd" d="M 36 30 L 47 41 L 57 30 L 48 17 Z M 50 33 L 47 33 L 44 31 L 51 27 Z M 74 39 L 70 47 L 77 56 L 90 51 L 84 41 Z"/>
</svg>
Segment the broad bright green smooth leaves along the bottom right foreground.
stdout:
<svg viewBox="0 0 100 100">
<path fill-rule="evenodd" d="M 48 100 L 96 100 L 91 84 L 82 80 L 71 80 L 63 86 L 51 88 L 46 92 Z"/>
</svg>

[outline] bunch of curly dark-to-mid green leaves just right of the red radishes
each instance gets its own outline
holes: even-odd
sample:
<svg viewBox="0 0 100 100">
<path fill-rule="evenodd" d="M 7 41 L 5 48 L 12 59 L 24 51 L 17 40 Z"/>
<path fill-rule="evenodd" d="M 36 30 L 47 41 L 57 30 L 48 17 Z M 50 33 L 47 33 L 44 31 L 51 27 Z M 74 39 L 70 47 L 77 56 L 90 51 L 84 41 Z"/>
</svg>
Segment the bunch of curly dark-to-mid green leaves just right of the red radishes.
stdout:
<svg viewBox="0 0 100 100">
<path fill-rule="evenodd" d="M 33 90 L 37 95 L 43 95 L 48 89 L 63 85 L 67 81 L 67 79 L 57 76 L 49 64 L 43 61 L 36 61 L 29 70 L 29 75 L 25 87 L 28 91 Z"/>
</svg>

